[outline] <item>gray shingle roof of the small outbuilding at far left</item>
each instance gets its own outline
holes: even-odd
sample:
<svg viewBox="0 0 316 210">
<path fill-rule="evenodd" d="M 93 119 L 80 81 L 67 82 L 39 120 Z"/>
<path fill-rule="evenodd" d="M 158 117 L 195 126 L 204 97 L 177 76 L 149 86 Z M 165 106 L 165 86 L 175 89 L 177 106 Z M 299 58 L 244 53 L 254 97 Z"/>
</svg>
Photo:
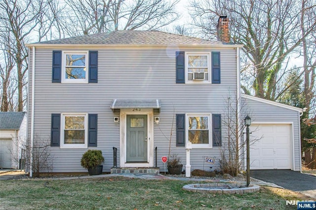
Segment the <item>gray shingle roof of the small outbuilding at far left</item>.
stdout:
<svg viewBox="0 0 316 210">
<path fill-rule="evenodd" d="M 0 112 L 0 130 L 19 130 L 25 112 Z"/>
</svg>

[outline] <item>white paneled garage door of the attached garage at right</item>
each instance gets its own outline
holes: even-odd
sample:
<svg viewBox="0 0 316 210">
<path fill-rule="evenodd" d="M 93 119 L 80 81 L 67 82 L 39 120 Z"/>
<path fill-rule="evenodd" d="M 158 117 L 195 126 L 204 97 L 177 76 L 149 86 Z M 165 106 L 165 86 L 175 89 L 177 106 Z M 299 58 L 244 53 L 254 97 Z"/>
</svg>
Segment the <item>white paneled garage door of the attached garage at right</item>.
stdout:
<svg viewBox="0 0 316 210">
<path fill-rule="evenodd" d="M 250 131 L 250 169 L 292 168 L 291 125 L 254 124 Z"/>
</svg>

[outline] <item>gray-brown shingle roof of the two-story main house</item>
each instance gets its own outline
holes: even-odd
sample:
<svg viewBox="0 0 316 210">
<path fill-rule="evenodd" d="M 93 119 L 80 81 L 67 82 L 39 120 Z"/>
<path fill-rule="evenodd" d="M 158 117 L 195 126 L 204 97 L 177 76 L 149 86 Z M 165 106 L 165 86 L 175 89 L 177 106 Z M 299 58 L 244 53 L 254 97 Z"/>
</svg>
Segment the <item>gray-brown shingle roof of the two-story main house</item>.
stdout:
<svg viewBox="0 0 316 210">
<path fill-rule="evenodd" d="M 176 35 L 159 31 L 113 31 L 93 35 L 62 38 L 36 44 L 222 44 L 185 35 Z"/>
</svg>

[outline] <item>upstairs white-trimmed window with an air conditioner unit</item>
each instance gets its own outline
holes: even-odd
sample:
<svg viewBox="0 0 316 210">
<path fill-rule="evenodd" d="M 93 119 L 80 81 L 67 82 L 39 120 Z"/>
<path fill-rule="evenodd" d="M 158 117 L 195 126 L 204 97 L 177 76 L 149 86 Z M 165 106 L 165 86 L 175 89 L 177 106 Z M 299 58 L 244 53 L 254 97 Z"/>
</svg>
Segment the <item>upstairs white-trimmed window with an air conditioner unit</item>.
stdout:
<svg viewBox="0 0 316 210">
<path fill-rule="evenodd" d="M 186 83 L 211 83 L 210 53 L 186 53 Z"/>
</svg>

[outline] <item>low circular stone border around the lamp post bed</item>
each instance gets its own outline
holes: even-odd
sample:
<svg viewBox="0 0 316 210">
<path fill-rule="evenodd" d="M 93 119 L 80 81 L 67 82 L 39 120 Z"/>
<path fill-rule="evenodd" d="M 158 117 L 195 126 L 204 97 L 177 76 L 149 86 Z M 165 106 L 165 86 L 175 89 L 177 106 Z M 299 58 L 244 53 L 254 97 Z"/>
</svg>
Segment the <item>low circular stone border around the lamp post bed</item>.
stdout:
<svg viewBox="0 0 316 210">
<path fill-rule="evenodd" d="M 248 187 L 242 187 L 240 183 L 208 183 L 208 184 L 188 184 L 182 189 L 190 192 L 212 193 L 212 194 L 243 194 L 253 193 L 260 190 L 260 186 L 249 184 Z M 213 187 L 213 189 L 210 189 Z"/>
</svg>

